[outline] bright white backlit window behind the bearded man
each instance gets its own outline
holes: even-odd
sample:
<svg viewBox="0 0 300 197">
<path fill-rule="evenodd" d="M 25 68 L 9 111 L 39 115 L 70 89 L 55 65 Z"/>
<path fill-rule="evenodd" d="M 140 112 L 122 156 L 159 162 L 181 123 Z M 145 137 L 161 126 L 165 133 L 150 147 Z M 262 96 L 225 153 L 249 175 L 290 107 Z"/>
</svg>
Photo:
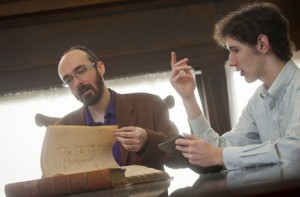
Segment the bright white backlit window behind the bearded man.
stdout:
<svg viewBox="0 0 300 197">
<path fill-rule="evenodd" d="M 162 99 L 168 95 L 174 96 L 175 106 L 170 109 L 170 119 L 180 132 L 189 133 L 184 107 L 169 82 L 169 76 L 170 72 L 146 74 L 107 80 L 106 84 L 119 93 L 149 92 Z M 20 92 L 0 97 L 0 188 L 10 182 L 41 177 L 40 150 L 46 129 L 36 126 L 35 114 L 62 117 L 79 107 L 81 103 L 67 88 Z M 185 184 L 192 183 L 193 179 L 190 179 Z M 1 192 L 3 190 L 0 196 L 4 196 Z"/>
</svg>

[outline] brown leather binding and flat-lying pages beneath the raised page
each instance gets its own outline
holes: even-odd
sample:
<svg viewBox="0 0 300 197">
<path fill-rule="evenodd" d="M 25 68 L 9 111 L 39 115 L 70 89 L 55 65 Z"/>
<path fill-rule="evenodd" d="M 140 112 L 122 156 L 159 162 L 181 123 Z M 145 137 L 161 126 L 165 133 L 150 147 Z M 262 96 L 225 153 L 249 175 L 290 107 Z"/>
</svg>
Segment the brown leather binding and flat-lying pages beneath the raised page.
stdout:
<svg viewBox="0 0 300 197">
<path fill-rule="evenodd" d="M 56 197 L 166 179 L 170 176 L 164 171 L 132 165 L 9 183 L 5 185 L 5 194 L 6 197 Z"/>
</svg>

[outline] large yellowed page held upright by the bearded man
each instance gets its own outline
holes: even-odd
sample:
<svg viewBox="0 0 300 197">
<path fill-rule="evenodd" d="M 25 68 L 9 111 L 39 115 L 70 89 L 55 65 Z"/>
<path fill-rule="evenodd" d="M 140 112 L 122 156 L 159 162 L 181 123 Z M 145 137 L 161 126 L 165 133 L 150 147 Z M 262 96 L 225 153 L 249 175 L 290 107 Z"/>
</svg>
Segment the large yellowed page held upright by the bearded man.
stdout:
<svg viewBox="0 0 300 197">
<path fill-rule="evenodd" d="M 119 167 L 112 154 L 117 126 L 50 125 L 41 153 L 44 177 Z"/>
</svg>

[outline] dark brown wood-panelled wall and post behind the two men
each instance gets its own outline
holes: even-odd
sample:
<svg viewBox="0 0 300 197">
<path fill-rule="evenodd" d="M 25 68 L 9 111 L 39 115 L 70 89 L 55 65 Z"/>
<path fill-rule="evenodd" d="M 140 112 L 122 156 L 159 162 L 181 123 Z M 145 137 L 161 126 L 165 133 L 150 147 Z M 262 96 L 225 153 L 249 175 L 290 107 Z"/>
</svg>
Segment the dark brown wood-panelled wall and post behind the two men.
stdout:
<svg viewBox="0 0 300 197">
<path fill-rule="evenodd" d="M 246 0 L 31 0 L 0 3 L 0 94 L 61 84 L 57 63 L 74 44 L 104 61 L 106 78 L 170 69 L 170 52 L 201 70 L 200 96 L 212 126 L 230 129 L 224 62 L 211 39 L 215 21 Z M 300 46 L 299 2 L 272 1 Z"/>
</svg>

